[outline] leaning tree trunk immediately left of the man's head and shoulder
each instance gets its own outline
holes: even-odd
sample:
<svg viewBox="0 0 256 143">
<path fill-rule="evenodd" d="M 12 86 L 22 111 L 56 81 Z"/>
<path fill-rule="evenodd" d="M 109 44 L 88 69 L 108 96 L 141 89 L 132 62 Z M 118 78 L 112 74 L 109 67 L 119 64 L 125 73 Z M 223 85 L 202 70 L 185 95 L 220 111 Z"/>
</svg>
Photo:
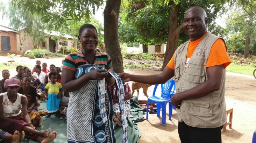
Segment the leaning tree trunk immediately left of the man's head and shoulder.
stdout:
<svg viewBox="0 0 256 143">
<path fill-rule="evenodd" d="M 161 68 L 161 71 L 164 70 L 165 66 L 170 61 L 172 55 L 178 47 L 179 33 L 182 29 L 182 25 L 178 26 L 178 14 L 179 8 L 175 5 L 173 1 L 169 2 L 171 5 L 171 10 L 169 14 L 169 28 L 168 28 L 168 38 L 166 44 L 166 50 L 164 55 L 164 63 Z"/>
</svg>

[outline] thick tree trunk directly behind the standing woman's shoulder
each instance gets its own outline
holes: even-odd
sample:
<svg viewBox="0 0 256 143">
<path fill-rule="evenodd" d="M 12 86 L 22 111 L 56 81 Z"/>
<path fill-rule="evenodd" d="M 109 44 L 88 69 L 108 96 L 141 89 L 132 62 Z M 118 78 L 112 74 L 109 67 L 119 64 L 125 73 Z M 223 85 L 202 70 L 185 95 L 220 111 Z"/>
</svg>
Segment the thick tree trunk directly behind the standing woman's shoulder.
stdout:
<svg viewBox="0 0 256 143">
<path fill-rule="evenodd" d="M 123 72 L 123 57 L 118 40 L 120 6 L 121 0 L 107 0 L 104 9 L 104 42 L 116 73 Z"/>
</svg>

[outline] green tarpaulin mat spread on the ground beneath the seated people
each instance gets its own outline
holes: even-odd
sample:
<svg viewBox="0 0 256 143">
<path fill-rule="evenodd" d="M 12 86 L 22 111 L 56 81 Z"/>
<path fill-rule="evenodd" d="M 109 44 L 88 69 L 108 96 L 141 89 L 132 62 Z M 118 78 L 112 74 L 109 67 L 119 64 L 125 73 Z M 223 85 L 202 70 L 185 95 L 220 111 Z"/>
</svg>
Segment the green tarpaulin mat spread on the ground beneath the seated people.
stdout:
<svg viewBox="0 0 256 143">
<path fill-rule="evenodd" d="M 40 101 L 40 106 L 38 106 L 38 110 L 40 111 L 46 111 L 46 102 Z M 134 118 L 128 117 L 128 141 L 129 143 L 138 143 L 141 132 L 140 128 L 136 124 L 136 122 L 144 121 L 143 114 L 145 113 L 146 109 L 141 108 L 137 101 L 137 97 L 132 97 L 130 99 L 131 102 L 131 114 L 134 116 Z M 54 141 L 51 143 L 66 143 L 67 142 L 67 122 L 66 120 L 61 120 L 57 117 L 55 117 L 53 114 L 50 118 L 45 118 L 43 116 L 42 120 L 42 127 L 37 127 L 37 130 L 44 131 L 45 129 L 49 129 L 50 133 L 54 130 L 56 130 L 57 138 L 55 138 Z M 114 129 L 115 129 L 115 137 L 116 137 L 116 143 L 122 142 L 122 127 L 119 127 L 116 122 L 114 122 Z M 36 141 L 33 141 L 29 138 L 25 138 L 22 143 L 38 143 Z"/>
</svg>

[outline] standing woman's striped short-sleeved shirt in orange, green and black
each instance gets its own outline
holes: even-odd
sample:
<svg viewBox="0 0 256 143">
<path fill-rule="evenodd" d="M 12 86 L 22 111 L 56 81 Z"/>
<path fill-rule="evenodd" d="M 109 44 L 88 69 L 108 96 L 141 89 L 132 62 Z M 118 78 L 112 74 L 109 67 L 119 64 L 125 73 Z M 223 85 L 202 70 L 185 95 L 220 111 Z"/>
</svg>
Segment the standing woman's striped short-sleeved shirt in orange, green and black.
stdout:
<svg viewBox="0 0 256 143">
<path fill-rule="evenodd" d="M 75 71 L 80 65 L 90 64 L 86 57 L 82 53 L 82 49 L 79 49 L 75 53 L 68 54 L 63 62 L 63 68 Z M 106 69 L 112 65 L 111 59 L 106 53 L 99 53 L 95 50 L 94 63 L 105 65 Z"/>
</svg>

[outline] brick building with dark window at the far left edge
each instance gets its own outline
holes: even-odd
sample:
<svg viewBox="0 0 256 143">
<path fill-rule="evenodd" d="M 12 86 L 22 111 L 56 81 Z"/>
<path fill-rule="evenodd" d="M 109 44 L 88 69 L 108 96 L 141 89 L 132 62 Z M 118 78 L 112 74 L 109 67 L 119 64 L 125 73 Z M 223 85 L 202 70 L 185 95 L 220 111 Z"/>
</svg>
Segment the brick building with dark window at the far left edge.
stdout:
<svg viewBox="0 0 256 143">
<path fill-rule="evenodd" d="M 17 54 L 16 31 L 0 25 L 0 55 Z"/>
</svg>

